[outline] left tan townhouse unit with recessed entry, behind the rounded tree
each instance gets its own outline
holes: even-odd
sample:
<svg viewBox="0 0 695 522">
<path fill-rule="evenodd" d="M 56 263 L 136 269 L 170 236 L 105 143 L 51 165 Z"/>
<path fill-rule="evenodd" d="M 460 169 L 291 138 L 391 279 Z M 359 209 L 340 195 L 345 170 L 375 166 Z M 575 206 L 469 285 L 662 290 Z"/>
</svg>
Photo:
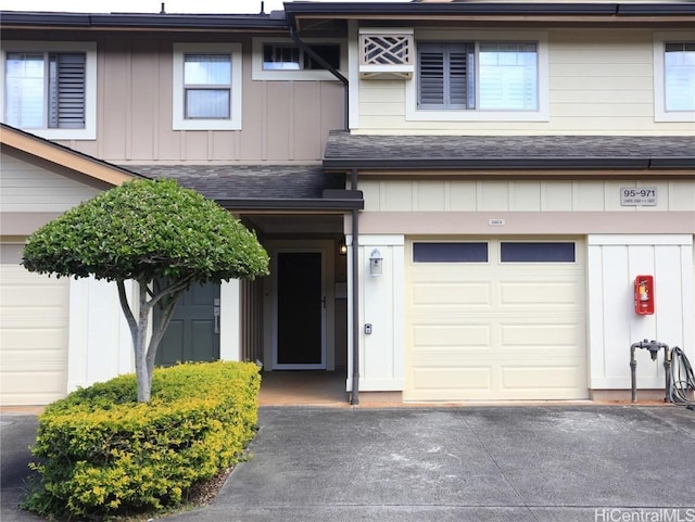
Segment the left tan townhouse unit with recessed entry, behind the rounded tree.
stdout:
<svg viewBox="0 0 695 522">
<path fill-rule="evenodd" d="M 320 166 L 345 125 L 343 37 L 294 42 L 283 13 L 2 13 L 2 404 L 132 371 L 113 284 L 20 260 L 41 224 L 139 176 L 216 200 L 273 255 L 269 278 L 194 287 L 159 362 L 344 372 L 342 216 L 363 202 Z"/>
</svg>

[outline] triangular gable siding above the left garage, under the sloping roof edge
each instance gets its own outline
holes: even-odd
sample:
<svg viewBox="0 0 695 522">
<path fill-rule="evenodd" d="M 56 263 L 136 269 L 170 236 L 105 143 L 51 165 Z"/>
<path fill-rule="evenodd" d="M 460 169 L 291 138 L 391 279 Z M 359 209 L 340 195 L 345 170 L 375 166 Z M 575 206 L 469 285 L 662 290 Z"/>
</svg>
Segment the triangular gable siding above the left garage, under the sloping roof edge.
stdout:
<svg viewBox="0 0 695 522">
<path fill-rule="evenodd" d="M 65 212 L 99 191 L 7 154 L 1 156 L 2 212 Z"/>
</svg>

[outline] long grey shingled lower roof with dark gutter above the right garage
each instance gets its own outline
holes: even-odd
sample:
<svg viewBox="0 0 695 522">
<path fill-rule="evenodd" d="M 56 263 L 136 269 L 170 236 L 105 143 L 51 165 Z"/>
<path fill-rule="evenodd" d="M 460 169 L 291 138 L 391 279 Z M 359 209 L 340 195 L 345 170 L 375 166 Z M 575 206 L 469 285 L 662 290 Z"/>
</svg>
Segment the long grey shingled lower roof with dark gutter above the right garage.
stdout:
<svg viewBox="0 0 695 522">
<path fill-rule="evenodd" d="M 374 136 L 331 131 L 331 170 L 669 171 L 695 178 L 695 136 Z"/>
</svg>

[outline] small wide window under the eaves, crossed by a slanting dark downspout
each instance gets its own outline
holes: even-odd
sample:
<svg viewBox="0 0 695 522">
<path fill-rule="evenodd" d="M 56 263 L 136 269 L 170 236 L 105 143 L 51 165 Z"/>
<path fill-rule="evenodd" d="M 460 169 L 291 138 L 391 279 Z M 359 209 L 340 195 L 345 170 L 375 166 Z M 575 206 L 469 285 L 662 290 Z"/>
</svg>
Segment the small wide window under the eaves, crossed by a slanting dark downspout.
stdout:
<svg viewBox="0 0 695 522">
<path fill-rule="evenodd" d="M 345 46 L 336 38 L 304 40 L 331 67 L 348 63 Z M 254 38 L 252 54 L 254 80 L 334 80 L 336 77 L 312 53 L 288 38 Z"/>
</svg>

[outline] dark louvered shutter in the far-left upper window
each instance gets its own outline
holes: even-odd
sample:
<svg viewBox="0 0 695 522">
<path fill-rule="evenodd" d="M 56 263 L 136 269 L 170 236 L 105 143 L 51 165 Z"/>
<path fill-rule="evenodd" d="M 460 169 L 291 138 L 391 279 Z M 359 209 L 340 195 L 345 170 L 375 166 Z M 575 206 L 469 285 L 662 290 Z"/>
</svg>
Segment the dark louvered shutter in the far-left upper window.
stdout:
<svg viewBox="0 0 695 522">
<path fill-rule="evenodd" d="M 85 73 L 84 53 L 49 54 L 49 128 L 85 128 Z"/>
</svg>

